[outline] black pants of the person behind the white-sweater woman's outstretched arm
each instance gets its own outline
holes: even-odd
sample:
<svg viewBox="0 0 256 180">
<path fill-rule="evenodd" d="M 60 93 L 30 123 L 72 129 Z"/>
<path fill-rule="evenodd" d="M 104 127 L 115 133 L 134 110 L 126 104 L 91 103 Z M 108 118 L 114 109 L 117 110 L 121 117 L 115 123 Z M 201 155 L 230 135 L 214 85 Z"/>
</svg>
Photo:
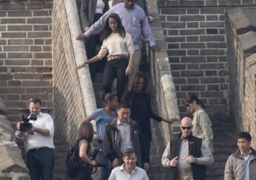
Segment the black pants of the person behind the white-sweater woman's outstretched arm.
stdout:
<svg viewBox="0 0 256 180">
<path fill-rule="evenodd" d="M 103 14 L 95 13 L 93 23 L 98 21 L 102 15 Z M 96 48 L 97 47 L 100 48 L 101 45 L 102 45 L 102 42 L 100 40 L 100 35 L 99 34 L 91 35 L 86 43 L 87 59 L 91 59 L 92 57 L 96 56 L 99 50 Z M 106 61 L 106 59 L 102 59 L 100 61 L 89 64 L 89 69 L 92 77 L 97 72 L 99 73 L 103 72 L 104 60 Z"/>
</svg>

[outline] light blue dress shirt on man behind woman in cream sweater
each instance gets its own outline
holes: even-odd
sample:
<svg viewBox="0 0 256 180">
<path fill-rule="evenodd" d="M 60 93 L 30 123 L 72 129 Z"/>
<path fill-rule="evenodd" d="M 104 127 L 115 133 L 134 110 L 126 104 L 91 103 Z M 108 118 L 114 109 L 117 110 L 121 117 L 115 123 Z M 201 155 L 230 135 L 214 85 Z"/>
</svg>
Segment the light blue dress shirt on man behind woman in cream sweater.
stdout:
<svg viewBox="0 0 256 180">
<path fill-rule="evenodd" d="M 120 16 L 125 31 L 131 35 L 135 51 L 141 48 L 141 35 L 145 42 L 149 42 L 150 47 L 156 45 L 145 12 L 136 4 L 129 9 L 125 7 L 124 3 L 114 5 L 84 33 L 86 37 L 89 38 L 90 35 L 98 34 L 111 13 L 117 13 Z"/>
</svg>

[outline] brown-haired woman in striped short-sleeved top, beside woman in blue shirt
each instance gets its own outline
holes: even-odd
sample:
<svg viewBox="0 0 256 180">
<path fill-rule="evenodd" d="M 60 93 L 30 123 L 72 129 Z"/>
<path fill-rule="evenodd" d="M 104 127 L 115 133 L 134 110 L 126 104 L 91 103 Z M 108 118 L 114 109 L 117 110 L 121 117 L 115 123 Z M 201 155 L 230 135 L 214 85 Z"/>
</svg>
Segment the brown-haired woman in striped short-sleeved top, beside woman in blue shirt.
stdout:
<svg viewBox="0 0 256 180">
<path fill-rule="evenodd" d="M 93 127 L 89 122 L 83 122 L 78 131 L 79 141 L 79 156 L 81 161 L 81 170 L 76 178 L 77 180 L 92 180 L 92 167 L 96 165 L 95 160 L 91 160 L 89 157 L 92 156 L 92 138 L 93 138 Z"/>
</svg>

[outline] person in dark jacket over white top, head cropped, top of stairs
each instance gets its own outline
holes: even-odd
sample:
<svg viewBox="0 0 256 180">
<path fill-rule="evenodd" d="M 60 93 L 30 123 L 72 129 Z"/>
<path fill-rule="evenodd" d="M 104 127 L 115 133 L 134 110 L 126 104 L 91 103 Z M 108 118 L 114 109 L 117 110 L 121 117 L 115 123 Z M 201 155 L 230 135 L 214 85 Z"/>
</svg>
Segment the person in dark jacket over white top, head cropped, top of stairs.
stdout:
<svg viewBox="0 0 256 180">
<path fill-rule="evenodd" d="M 108 0 L 81 0 L 81 19 L 82 19 L 82 30 L 87 31 L 89 27 L 100 19 L 100 17 L 109 10 Z M 86 54 L 87 58 L 90 59 L 97 55 L 97 51 L 102 45 L 100 35 L 92 35 L 89 37 L 86 43 Z M 92 77 L 95 75 L 96 70 L 103 70 L 103 61 L 90 64 L 90 73 Z"/>
</svg>

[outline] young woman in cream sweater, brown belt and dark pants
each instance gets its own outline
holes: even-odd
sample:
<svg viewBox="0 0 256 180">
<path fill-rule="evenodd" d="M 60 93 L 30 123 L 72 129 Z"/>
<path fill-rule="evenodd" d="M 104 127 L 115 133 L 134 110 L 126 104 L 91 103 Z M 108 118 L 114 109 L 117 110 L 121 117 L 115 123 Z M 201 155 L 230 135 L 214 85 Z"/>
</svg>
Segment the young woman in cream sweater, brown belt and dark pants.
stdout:
<svg viewBox="0 0 256 180">
<path fill-rule="evenodd" d="M 128 75 L 131 74 L 132 70 L 134 44 L 131 35 L 125 32 L 117 13 L 109 15 L 101 31 L 101 37 L 103 44 L 99 54 L 80 64 L 77 70 L 84 67 L 85 64 L 99 61 L 109 52 L 103 76 L 103 91 L 105 94 L 111 92 L 112 83 L 117 78 L 117 98 L 120 102 L 125 84 L 128 83 Z"/>
</svg>

